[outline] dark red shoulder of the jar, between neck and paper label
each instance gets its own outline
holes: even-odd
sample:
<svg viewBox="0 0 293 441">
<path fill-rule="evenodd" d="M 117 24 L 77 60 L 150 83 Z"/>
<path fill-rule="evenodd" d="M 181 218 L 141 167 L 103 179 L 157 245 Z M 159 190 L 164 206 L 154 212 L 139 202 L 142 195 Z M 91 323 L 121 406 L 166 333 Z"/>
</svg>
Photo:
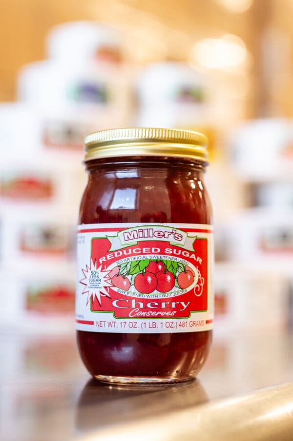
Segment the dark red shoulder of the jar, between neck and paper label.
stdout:
<svg viewBox="0 0 293 441">
<path fill-rule="evenodd" d="M 80 223 L 211 223 L 203 174 L 186 170 L 139 170 L 89 176 Z"/>
</svg>

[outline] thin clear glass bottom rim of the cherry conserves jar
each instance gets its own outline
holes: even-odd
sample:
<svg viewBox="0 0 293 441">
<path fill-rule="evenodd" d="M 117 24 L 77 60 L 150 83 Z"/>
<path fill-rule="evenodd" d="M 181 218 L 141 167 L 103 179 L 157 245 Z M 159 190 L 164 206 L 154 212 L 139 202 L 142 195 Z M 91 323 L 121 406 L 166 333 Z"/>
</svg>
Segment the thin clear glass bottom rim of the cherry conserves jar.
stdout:
<svg viewBox="0 0 293 441">
<path fill-rule="evenodd" d="M 162 384 L 162 383 L 182 383 L 184 381 L 192 381 L 195 379 L 194 375 L 186 377 L 155 377 L 155 376 L 114 376 L 114 375 L 93 375 L 96 380 L 103 383 L 111 384 Z"/>
</svg>

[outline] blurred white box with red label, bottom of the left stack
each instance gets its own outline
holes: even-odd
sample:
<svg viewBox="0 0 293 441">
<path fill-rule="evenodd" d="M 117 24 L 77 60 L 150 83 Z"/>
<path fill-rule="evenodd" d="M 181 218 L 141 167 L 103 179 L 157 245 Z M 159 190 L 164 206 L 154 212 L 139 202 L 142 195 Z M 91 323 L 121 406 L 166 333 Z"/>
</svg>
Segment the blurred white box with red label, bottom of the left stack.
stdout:
<svg viewBox="0 0 293 441">
<path fill-rule="evenodd" d="M 46 261 L 46 265 L 31 266 L 30 272 L 22 265 L 18 265 L 17 272 L 15 268 L 1 265 L 0 281 L 5 284 L 5 296 L 0 327 L 46 334 L 72 332 L 74 265 Z"/>
</svg>

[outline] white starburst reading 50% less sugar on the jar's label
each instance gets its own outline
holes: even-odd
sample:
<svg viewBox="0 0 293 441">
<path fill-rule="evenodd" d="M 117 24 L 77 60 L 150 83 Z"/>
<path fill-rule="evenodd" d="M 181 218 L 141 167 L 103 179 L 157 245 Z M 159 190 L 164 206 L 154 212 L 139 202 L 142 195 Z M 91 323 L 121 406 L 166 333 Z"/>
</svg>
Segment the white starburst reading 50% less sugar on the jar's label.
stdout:
<svg viewBox="0 0 293 441">
<path fill-rule="evenodd" d="M 84 285 L 82 294 L 87 294 L 86 305 L 88 305 L 90 299 L 94 301 L 96 298 L 101 306 L 101 297 L 111 298 L 108 292 L 109 287 L 112 286 L 109 278 L 110 271 L 102 271 L 102 265 L 98 268 L 97 262 L 92 260 L 90 265 L 86 265 L 82 271 L 84 279 L 80 280 L 80 283 Z"/>
</svg>

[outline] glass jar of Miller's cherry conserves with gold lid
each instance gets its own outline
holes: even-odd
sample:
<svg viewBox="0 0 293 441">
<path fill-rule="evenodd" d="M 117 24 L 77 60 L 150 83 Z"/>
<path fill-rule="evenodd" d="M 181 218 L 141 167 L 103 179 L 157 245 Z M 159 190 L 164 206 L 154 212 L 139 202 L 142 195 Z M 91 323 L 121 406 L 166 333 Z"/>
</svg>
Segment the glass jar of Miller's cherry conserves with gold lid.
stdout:
<svg viewBox="0 0 293 441">
<path fill-rule="evenodd" d="M 171 129 L 85 138 L 76 327 L 89 373 L 111 383 L 194 378 L 213 322 L 206 139 Z"/>
</svg>

